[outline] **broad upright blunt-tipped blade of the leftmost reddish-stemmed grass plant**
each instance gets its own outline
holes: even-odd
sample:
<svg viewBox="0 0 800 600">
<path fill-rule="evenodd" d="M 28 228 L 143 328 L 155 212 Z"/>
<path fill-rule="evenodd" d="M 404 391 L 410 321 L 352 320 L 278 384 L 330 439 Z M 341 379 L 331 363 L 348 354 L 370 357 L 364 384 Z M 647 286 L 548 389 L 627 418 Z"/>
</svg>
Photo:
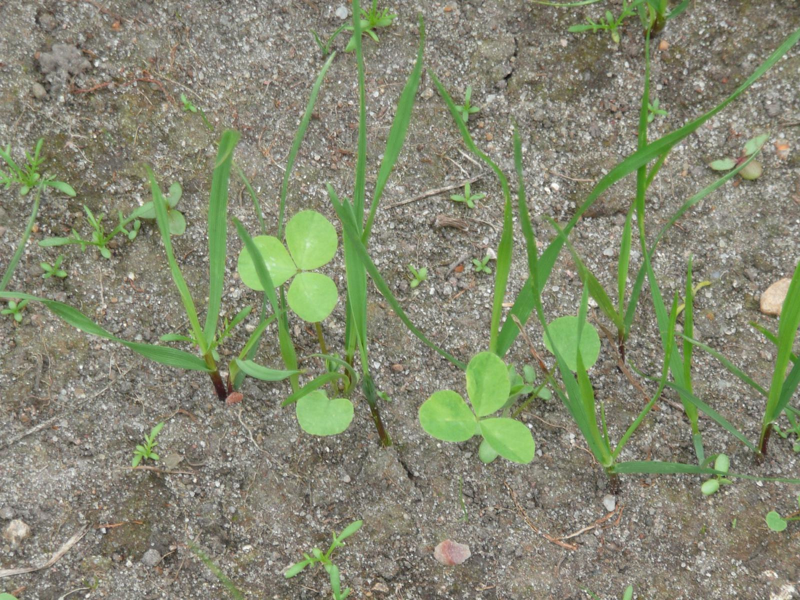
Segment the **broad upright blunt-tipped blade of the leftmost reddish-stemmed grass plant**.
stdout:
<svg viewBox="0 0 800 600">
<path fill-rule="evenodd" d="M 219 310 L 222 305 L 222 286 L 225 280 L 225 259 L 228 240 L 228 181 L 230 163 L 234 158 L 234 148 L 238 143 L 238 131 L 226 130 L 222 133 L 211 176 L 211 195 L 208 202 L 208 310 L 203 334 L 206 345 L 210 346 L 217 333 Z"/>
</svg>

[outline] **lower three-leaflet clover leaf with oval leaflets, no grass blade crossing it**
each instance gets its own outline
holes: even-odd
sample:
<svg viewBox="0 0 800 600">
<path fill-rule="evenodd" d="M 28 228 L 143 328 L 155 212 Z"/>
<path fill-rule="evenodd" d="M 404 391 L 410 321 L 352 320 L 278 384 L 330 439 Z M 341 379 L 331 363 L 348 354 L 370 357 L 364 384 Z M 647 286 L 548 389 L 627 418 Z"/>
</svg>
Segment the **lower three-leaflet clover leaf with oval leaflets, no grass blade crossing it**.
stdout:
<svg viewBox="0 0 800 600">
<path fill-rule="evenodd" d="M 483 462 L 498 456 L 527 464 L 534 459 L 534 438 L 530 430 L 513 418 L 489 415 L 508 401 L 511 384 L 508 367 L 497 354 L 475 354 L 466 367 L 466 394 L 472 408 L 453 390 L 440 390 L 419 407 L 419 422 L 443 442 L 466 442 L 474 435 L 483 438 L 479 455 Z"/>
</svg>

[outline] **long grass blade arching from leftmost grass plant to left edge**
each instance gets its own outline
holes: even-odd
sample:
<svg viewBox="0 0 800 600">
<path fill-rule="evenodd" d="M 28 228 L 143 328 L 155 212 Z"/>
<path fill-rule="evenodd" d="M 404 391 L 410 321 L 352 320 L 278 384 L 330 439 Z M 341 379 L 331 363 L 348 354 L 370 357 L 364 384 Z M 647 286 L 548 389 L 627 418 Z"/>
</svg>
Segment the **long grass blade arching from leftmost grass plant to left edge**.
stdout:
<svg viewBox="0 0 800 600">
<path fill-rule="evenodd" d="M 206 362 L 202 358 L 178 350 L 168 346 L 156 346 L 154 344 L 144 344 L 141 342 L 128 342 L 122 338 L 110 334 L 97 323 L 86 317 L 80 310 L 73 308 L 63 302 L 56 302 L 55 300 L 47 300 L 46 298 L 38 298 L 30 294 L 19 294 L 18 292 L 0 292 L 0 298 L 12 299 L 28 299 L 34 302 L 41 302 L 53 314 L 62 318 L 71 326 L 78 328 L 85 334 L 97 335 L 100 338 L 110 339 L 113 342 L 118 342 L 130 348 L 137 354 L 141 354 L 145 358 L 150 358 L 154 362 L 159 362 L 162 365 L 174 366 L 178 369 L 195 370 L 208 372 L 210 369 L 206 366 Z"/>
</svg>

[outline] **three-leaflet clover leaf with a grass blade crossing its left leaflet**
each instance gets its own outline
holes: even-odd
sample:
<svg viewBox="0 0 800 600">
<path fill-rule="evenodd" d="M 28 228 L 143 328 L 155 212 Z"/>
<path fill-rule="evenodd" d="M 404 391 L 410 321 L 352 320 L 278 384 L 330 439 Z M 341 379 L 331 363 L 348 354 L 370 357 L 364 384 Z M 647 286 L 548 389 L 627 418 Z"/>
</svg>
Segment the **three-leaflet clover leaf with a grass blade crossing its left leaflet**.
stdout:
<svg viewBox="0 0 800 600">
<path fill-rule="evenodd" d="M 292 280 L 286 302 L 298 317 L 320 322 L 333 312 L 339 299 L 336 284 L 327 275 L 309 272 L 326 265 L 336 254 L 338 238 L 328 219 L 314 210 L 302 210 L 286 224 L 286 246 L 272 235 L 259 235 L 253 242 L 274 286 Z M 239 254 L 237 270 L 251 290 L 264 289 L 246 248 Z"/>
</svg>

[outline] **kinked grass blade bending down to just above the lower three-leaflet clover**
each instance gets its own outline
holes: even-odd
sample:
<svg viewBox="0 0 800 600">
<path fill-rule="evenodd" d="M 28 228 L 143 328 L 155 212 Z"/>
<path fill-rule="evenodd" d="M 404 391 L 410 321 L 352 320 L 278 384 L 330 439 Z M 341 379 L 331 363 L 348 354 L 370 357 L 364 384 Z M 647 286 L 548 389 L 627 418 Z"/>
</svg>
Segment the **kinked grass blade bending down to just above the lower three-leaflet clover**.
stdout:
<svg viewBox="0 0 800 600">
<path fill-rule="evenodd" d="M 500 170 L 500 167 L 497 166 L 497 164 L 491 158 L 489 158 L 487 154 L 484 154 L 480 149 L 478 149 L 478 146 L 475 146 L 475 142 L 473 142 L 472 136 L 470 135 L 470 130 L 467 129 L 466 123 L 462 118 L 461 111 L 458 109 L 458 106 L 455 106 L 453 98 L 450 98 L 450 94 L 447 93 L 445 86 L 442 86 L 442 83 L 439 82 L 436 74 L 434 74 L 433 71 L 429 70 L 428 74 L 430 74 L 430 78 L 436 85 L 439 95 L 442 96 L 447 108 L 450 110 L 450 114 L 452 115 L 453 120 L 456 122 L 458 130 L 461 132 L 465 146 L 476 156 L 478 156 L 478 158 L 485 162 L 491 170 L 494 171 L 494 174 L 497 175 L 498 179 L 500 180 L 500 186 L 502 187 L 502 194 L 504 198 L 502 220 L 503 225 L 502 233 L 500 234 L 500 242 L 498 242 L 497 259 L 495 261 L 494 298 L 492 300 L 492 317 L 490 324 L 491 330 L 489 334 L 489 351 L 494 352 L 495 354 L 498 354 L 498 356 L 502 357 L 506 354 L 508 349 L 498 348 L 498 334 L 500 332 L 502 302 L 506 295 L 508 274 L 511 270 L 511 254 L 514 246 L 514 223 L 512 221 L 511 214 L 511 190 L 508 185 L 508 178 L 506 178 L 506 174 Z M 514 326 L 514 324 L 511 323 L 511 326 Z"/>
</svg>

